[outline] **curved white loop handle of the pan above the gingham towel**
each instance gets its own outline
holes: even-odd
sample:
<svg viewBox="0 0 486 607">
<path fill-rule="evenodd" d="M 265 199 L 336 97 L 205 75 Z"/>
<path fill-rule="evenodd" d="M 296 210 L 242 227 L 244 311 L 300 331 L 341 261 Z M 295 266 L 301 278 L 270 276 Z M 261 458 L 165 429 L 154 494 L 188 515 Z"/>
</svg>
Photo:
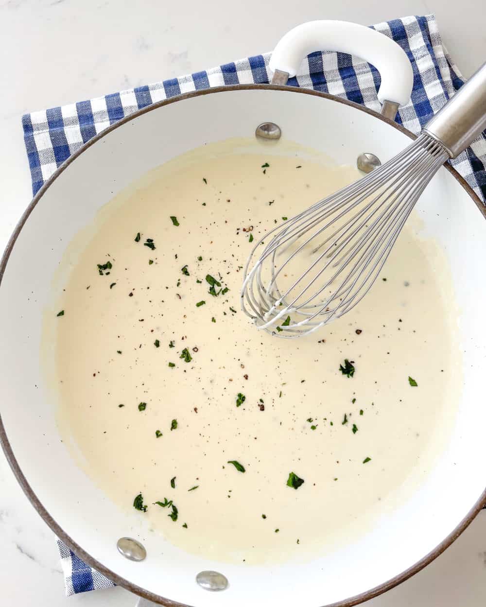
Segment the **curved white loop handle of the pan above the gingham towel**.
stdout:
<svg viewBox="0 0 486 607">
<path fill-rule="evenodd" d="M 381 103 L 402 106 L 410 100 L 413 69 L 402 47 L 376 30 L 348 21 L 309 21 L 286 33 L 269 64 L 277 82 L 282 83 L 285 74 L 295 76 L 303 58 L 316 50 L 348 53 L 376 67 L 382 78 L 378 91 Z"/>
</svg>

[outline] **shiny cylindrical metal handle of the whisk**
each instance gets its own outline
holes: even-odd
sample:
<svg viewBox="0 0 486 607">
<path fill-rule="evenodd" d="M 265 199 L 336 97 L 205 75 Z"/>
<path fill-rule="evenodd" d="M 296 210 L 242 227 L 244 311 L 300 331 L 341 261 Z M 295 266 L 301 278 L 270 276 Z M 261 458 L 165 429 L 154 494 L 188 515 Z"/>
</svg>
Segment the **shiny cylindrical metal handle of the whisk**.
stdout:
<svg viewBox="0 0 486 607">
<path fill-rule="evenodd" d="M 486 63 L 425 125 L 451 158 L 461 154 L 486 129 Z"/>
</svg>

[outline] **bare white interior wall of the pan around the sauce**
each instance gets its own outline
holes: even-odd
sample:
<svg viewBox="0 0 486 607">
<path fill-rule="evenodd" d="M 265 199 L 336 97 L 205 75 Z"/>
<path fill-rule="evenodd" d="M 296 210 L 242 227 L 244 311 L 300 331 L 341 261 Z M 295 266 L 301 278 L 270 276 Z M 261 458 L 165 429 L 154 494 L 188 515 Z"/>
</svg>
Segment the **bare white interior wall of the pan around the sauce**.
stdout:
<svg viewBox="0 0 486 607">
<path fill-rule="evenodd" d="M 467 515 L 486 484 L 486 327 L 481 321 L 486 285 L 478 270 L 486 258 L 486 221 L 445 169 L 427 188 L 418 210 L 425 232 L 442 245 L 453 271 L 464 392 L 447 452 L 420 492 L 383 519 L 372 535 L 308 565 L 249 568 L 203 560 L 164 545 L 135 510 L 126 515 L 113 509 L 60 442 L 55 405 L 43 387 L 39 347 L 43 309 L 53 300 L 53 276 L 67 244 L 113 194 L 144 172 L 209 141 L 248 137 L 266 120 L 279 124 L 286 138 L 343 164 L 353 164 L 366 151 L 385 161 L 410 141 L 352 107 L 292 92 L 227 91 L 160 107 L 105 135 L 59 175 L 22 228 L 0 288 L 1 415 L 33 492 L 66 533 L 113 572 L 195 606 L 317 606 L 365 592 L 433 550 Z M 123 535 L 144 543 L 146 561 L 132 563 L 118 554 L 116 540 Z M 203 569 L 223 572 L 229 588 L 220 593 L 199 588 L 195 575 Z"/>
</svg>

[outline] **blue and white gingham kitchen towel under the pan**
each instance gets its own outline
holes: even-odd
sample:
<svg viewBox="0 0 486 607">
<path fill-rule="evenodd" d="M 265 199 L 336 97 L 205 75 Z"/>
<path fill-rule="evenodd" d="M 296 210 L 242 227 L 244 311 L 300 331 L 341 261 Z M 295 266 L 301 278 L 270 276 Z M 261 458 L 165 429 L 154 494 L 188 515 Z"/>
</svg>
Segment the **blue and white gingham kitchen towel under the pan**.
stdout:
<svg viewBox="0 0 486 607">
<path fill-rule="evenodd" d="M 398 42 L 413 66 L 411 102 L 400 108 L 397 121 L 418 133 L 462 86 L 461 73 L 442 44 L 434 15 L 404 17 L 373 27 Z M 257 55 L 173 80 L 26 114 L 22 123 L 34 194 L 83 143 L 120 118 L 191 90 L 268 83 L 269 58 L 270 53 Z M 478 58 L 478 67 L 479 64 L 481 58 Z M 376 95 L 379 73 L 365 61 L 342 53 L 311 53 L 289 84 L 329 92 L 371 109 L 380 109 Z M 451 162 L 481 200 L 486 200 L 485 134 Z M 86 565 L 60 540 L 58 547 L 67 595 L 113 586 L 113 582 Z"/>
</svg>

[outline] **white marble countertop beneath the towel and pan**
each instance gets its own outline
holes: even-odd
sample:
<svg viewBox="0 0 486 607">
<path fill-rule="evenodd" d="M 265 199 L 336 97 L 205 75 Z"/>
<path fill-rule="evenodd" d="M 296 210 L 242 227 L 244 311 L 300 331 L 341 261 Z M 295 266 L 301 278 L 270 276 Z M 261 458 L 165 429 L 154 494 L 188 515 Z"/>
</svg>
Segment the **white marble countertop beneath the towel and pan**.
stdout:
<svg viewBox="0 0 486 607">
<path fill-rule="evenodd" d="M 286 30 L 311 19 L 372 24 L 431 12 L 451 55 L 469 76 L 486 59 L 484 0 L 0 0 L 0 248 L 32 195 L 24 112 L 265 52 Z M 53 534 L 1 454 L 0 546 L 0 607 L 135 605 L 135 597 L 121 588 L 64 596 Z M 485 604 L 486 511 L 424 571 L 366 603 Z"/>
</svg>

